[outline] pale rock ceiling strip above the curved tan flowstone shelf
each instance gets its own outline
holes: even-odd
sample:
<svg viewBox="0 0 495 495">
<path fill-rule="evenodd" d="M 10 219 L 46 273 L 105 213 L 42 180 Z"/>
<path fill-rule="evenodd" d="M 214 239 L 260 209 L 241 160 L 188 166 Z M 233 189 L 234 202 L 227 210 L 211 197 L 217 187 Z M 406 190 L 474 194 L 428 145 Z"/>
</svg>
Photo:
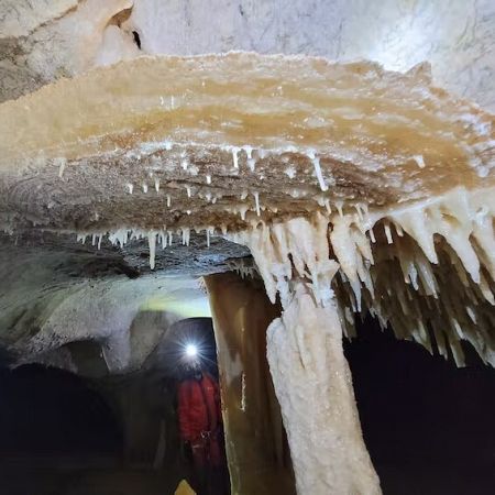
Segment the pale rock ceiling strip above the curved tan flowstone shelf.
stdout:
<svg viewBox="0 0 495 495">
<path fill-rule="evenodd" d="M 0 46 L 0 100 L 140 54 L 248 50 L 428 61 L 438 85 L 495 109 L 492 0 L 2 0 Z"/>
</svg>

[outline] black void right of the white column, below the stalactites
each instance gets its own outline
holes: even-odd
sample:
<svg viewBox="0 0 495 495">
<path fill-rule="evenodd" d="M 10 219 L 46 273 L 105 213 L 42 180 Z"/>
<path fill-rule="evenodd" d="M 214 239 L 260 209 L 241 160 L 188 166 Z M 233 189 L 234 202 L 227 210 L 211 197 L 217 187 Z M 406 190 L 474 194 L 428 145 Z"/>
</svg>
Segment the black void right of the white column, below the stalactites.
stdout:
<svg viewBox="0 0 495 495">
<path fill-rule="evenodd" d="M 477 495 L 495 486 L 495 371 L 398 341 L 367 318 L 345 342 L 364 439 L 386 495 Z"/>
</svg>

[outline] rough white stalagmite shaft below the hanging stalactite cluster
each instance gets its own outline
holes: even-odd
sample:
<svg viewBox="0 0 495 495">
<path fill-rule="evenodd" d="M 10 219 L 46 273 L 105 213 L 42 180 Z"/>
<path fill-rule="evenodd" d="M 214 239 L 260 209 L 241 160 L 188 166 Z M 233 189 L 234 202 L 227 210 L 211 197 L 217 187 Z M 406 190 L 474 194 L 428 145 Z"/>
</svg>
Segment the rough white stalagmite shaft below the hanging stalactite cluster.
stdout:
<svg viewBox="0 0 495 495">
<path fill-rule="evenodd" d="M 298 494 L 381 493 L 361 433 L 336 301 L 320 307 L 297 280 L 267 354 Z"/>
</svg>

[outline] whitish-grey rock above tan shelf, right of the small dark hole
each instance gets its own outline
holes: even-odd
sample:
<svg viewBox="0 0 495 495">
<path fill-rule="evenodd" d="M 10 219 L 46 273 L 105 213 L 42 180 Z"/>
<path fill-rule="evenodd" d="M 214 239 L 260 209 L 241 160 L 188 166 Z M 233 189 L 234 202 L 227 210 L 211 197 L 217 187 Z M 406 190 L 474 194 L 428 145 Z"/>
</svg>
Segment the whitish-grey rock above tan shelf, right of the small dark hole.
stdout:
<svg viewBox="0 0 495 495">
<path fill-rule="evenodd" d="M 491 0 L 135 0 L 130 23 L 153 54 L 297 53 L 393 70 L 428 61 L 439 85 L 495 108 Z"/>
</svg>

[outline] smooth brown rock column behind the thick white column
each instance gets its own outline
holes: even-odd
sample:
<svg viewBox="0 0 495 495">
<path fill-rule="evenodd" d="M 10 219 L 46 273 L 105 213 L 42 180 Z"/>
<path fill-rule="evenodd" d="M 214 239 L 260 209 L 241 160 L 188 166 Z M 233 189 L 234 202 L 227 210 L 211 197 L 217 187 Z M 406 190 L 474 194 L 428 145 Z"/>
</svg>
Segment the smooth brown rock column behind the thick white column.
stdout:
<svg viewBox="0 0 495 495">
<path fill-rule="evenodd" d="M 280 309 L 261 280 L 205 277 L 210 297 L 232 493 L 295 493 L 288 447 L 266 361 L 266 328 Z"/>
</svg>

